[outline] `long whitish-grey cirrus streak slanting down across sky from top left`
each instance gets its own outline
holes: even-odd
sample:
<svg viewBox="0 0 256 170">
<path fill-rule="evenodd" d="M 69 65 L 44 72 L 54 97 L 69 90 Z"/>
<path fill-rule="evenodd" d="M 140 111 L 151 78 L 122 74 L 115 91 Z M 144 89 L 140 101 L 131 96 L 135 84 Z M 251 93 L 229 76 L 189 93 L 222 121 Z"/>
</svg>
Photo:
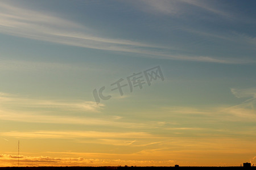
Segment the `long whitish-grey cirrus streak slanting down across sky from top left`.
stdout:
<svg viewBox="0 0 256 170">
<path fill-rule="evenodd" d="M 156 3 L 155 1 L 150 2 Z M 161 1 L 159 4 L 161 3 L 163 3 L 162 6 L 166 6 L 165 1 Z M 173 55 L 171 51 L 179 49 L 171 48 L 170 46 L 96 36 L 94 31 L 85 25 L 71 22 L 51 13 L 46 14 L 46 12 L 42 11 L 29 10 L 7 1 L 0 2 L 0 11 L 0 33 L 11 36 L 91 49 L 110 50 L 112 52 L 136 53 L 142 57 L 215 63 L 244 63 L 244 61 L 237 59 Z"/>
</svg>

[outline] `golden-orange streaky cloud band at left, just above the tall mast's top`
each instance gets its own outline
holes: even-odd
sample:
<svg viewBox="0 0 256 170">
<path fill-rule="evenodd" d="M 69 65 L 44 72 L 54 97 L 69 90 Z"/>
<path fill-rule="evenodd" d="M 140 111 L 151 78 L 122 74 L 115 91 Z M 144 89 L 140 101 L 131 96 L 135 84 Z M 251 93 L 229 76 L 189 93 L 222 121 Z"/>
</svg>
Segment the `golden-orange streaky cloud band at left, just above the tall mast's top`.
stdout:
<svg viewBox="0 0 256 170">
<path fill-rule="evenodd" d="M 142 147 L 158 145 L 167 140 L 166 137 L 153 135 L 143 131 L 6 131 L 0 135 L 7 138 L 32 139 L 72 139 L 78 143 L 93 143 L 107 146 Z"/>
</svg>

